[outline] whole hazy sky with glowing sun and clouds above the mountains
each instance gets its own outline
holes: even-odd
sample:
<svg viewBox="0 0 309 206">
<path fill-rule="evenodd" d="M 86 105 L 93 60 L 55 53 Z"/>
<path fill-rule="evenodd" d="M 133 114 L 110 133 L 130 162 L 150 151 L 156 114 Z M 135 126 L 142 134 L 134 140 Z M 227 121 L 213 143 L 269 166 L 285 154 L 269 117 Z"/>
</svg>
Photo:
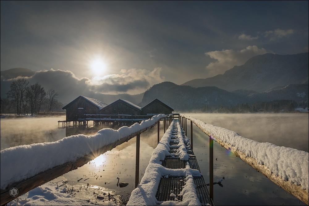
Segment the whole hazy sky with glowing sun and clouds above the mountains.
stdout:
<svg viewBox="0 0 309 206">
<path fill-rule="evenodd" d="M 260 54 L 308 52 L 308 8 L 308 1 L 1 1 L 0 69 L 37 71 L 29 81 L 54 88 L 139 94 L 223 74 Z"/>
</svg>

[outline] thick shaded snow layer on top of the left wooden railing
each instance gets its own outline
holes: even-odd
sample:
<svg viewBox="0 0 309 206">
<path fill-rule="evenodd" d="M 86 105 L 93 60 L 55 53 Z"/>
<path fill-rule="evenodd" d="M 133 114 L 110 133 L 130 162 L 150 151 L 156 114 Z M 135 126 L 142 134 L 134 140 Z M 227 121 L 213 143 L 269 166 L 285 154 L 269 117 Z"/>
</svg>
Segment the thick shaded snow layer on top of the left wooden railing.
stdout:
<svg viewBox="0 0 309 206">
<path fill-rule="evenodd" d="M 3 149 L 0 152 L 0 189 L 4 190 L 12 183 L 31 178 L 66 162 L 76 162 L 79 158 L 105 145 L 156 124 L 160 118 L 165 116 L 163 114 L 153 116 L 151 119 L 142 121 L 141 124 L 135 123 L 118 130 L 104 128 L 90 136 L 78 134 L 55 142 L 34 143 Z"/>
</svg>

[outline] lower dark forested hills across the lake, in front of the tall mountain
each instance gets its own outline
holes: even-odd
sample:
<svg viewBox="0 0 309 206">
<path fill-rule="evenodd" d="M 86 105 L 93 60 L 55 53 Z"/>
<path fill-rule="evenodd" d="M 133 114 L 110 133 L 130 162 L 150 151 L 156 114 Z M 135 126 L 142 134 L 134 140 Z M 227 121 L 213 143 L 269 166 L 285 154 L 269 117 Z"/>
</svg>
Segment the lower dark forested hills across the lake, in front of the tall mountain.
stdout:
<svg viewBox="0 0 309 206">
<path fill-rule="evenodd" d="M 206 105 L 219 107 L 233 106 L 237 103 L 308 100 L 308 84 L 290 84 L 267 92 L 253 90 L 226 91 L 215 86 L 192 87 L 162 82 L 148 89 L 138 105 L 143 107 L 155 98 L 173 107 L 176 111 L 190 111 Z"/>
</svg>

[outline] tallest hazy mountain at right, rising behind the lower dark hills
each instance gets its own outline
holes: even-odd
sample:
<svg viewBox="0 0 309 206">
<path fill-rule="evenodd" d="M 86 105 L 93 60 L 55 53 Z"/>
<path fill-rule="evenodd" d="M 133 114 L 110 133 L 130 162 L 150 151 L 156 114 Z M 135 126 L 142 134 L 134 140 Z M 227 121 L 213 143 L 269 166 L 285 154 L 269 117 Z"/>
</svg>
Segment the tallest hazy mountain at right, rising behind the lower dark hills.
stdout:
<svg viewBox="0 0 309 206">
<path fill-rule="evenodd" d="M 224 74 L 206 79 L 193 79 L 182 85 L 217 86 L 224 90 L 254 90 L 264 92 L 276 86 L 307 84 L 309 53 L 293 55 L 263 54 L 234 66 Z"/>
</svg>

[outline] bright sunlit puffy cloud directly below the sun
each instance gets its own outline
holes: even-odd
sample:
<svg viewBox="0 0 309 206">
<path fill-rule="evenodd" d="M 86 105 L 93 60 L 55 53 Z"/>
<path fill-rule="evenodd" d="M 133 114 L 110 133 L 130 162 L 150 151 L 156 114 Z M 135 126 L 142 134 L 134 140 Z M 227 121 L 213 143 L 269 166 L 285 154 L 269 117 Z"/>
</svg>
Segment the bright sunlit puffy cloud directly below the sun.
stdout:
<svg viewBox="0 0 309 206">
<path fill-rule="evenodd" d="M 146 69 L 121 69 L 120 74 L 110 74 L 104 77 L 94 77 L 86 81 L 91 90 L 99 93 L 128 92 L 143 89 L 144 92 L 150 86 L 164 81 L 160 77 L 162 68 L 153 71 Z"/>
</svg>

